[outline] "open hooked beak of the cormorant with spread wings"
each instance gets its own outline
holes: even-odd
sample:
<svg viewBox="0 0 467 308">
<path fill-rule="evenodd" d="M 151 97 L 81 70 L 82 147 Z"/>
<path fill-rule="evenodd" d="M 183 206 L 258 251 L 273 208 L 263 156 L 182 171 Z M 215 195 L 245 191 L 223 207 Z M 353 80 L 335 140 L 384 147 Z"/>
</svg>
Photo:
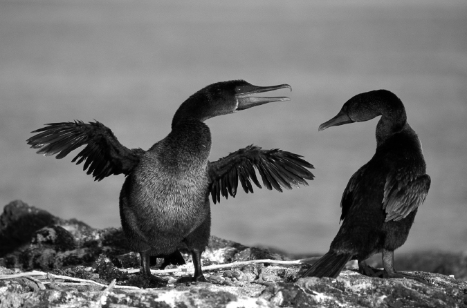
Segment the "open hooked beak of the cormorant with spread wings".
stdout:
<svg viewBox="0 0 467 308">
<path fill-rule="evenodd" d="M 239 102 L 236 110 L 244 110 L 254 106 L 267 104 L 271 102 L 284 102 L 290 101 L 289 97 L 254 97 L 250 96 L 256 93 L 269 92 L 273 90 L 279 90 L 282 88 L 289 88 L 292 91 L 292 87 L 288 84 L 280 84 L 279 86 L 253 86 L 246 85 L 237 88 L 237 101 Z"/>
</svg>

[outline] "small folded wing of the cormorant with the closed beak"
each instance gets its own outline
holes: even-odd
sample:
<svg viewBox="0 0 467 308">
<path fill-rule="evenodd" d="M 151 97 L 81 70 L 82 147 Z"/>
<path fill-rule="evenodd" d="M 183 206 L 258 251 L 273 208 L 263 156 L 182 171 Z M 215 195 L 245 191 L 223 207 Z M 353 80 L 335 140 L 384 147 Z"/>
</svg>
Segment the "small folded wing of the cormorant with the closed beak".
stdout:
<svg viewBox="0 0 467 308">
<path fill-rule="evenodd" d="M 410 175 L 387 175 L 384 187 L 383 209 L 385 222 L 401 220 L 425 201 L 431 179 L 429 175 L 412 178 Z"/>
</svg>

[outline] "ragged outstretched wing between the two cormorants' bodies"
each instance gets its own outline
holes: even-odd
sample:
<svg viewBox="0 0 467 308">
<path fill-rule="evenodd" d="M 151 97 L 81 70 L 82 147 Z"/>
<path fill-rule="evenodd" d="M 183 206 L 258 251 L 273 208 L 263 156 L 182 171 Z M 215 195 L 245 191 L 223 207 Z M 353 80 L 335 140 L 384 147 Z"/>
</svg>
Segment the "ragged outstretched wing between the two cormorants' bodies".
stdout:
<svg viewBox="0 0 467 308">
<path fill-rule="evenodd" d="M 306 180 L 313 180 L 313 174 L 306 168 L 313 165 L 302 160 L 300 155 L 279 150 L 262 150 L 259 146 L 247 146 L 239 151 L 208 164 L 210 177 L 209 191 L 214 204 L 221 201 L 221 195 L 235 198 L 240 181 L 246 193 L 253 193 L 250 180 L 259 188 L 262 186 L 256 177 L 255 168 L 262 177 L 267 189 L 282 192 L 281 187 L 292 189 L 292 185 L 308 185 Z"/>
</svg>

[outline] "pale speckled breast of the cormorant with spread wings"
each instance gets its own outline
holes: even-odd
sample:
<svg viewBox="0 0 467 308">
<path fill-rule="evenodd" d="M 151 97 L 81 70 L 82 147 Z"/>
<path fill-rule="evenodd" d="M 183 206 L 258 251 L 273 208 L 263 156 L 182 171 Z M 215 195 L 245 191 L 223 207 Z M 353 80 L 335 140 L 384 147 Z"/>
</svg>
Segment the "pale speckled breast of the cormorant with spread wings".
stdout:
<svg viewBox="0 0 467 308">
<path fill-rule="evenodd" d="M 129 203 L 136 215 L 151 218 L 158 229 L 191 229 L 201 224 L 209 213 L 206 166 L 184 164 L 188 168 L 163 164 L 151 155 L 143 157 L 131 175 Z"/>
</svg>

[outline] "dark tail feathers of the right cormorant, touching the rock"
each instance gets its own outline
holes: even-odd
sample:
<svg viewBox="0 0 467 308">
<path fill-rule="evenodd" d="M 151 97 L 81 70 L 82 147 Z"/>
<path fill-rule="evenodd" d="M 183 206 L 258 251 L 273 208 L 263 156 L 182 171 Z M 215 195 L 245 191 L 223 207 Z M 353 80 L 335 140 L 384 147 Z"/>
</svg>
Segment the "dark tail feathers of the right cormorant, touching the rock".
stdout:
<svg viewBox="0 0 467 308">
<path fill-rule="evenodd" d="M 352 255 L 349 253 L 337 254 L 333 251 L 328 251 L 301 278 L 308 276 L 336 278 L 351 258 Z"/>
</svg>

